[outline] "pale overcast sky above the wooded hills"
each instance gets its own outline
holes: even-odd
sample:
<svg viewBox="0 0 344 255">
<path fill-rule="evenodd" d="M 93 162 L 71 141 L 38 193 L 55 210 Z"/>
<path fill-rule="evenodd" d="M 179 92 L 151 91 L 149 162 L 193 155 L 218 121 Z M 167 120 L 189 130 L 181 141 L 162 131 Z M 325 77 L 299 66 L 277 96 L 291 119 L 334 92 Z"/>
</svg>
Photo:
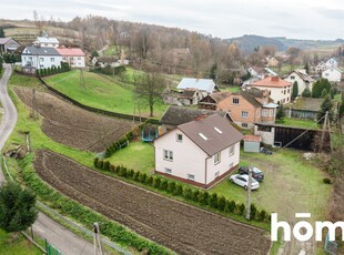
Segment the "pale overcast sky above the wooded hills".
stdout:
<svg viewBox="0 0 344 255">
<path fill-rule="evenodd" d="M 178 27 L 222 39 L 259 34 L 344 38 L 343 0 L 0 0 L 0 18 L 63 21 L 87 14 Z"/>
</svg>

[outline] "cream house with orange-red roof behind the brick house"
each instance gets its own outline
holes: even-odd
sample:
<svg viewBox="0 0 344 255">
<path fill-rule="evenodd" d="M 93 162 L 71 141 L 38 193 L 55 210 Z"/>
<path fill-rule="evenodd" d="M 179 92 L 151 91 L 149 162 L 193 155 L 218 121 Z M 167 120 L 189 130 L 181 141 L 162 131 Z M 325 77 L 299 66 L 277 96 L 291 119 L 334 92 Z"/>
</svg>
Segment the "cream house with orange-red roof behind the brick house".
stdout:
<svg viewBox="0 0 344 255">
<path fill-rule="evenodd" d="M 292 83 L 279 76 L 266 76 L 263 80 L 247 84 L 246 88 L 267 90 L 270 98 L 277 104 L 289 103 L 291 101 Z"/>
</svg>

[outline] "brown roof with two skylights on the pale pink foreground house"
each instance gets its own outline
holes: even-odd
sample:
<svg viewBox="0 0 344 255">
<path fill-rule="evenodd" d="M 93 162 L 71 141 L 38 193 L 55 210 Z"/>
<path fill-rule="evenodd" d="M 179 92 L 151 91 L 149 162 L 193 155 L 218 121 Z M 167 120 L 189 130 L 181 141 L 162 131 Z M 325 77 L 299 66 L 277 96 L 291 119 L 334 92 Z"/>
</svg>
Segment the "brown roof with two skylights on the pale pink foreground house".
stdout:
<svg viewBox="0 0 344 255">
<path fill-rule="evenodd" d="M 235 130 L 226 119 L 217 114 L 179 125 L 178 129 L 210 156 L 243 139 L 241 132 Z M 200 134 L 206 137 L 206 140 Z"/>
</svg>

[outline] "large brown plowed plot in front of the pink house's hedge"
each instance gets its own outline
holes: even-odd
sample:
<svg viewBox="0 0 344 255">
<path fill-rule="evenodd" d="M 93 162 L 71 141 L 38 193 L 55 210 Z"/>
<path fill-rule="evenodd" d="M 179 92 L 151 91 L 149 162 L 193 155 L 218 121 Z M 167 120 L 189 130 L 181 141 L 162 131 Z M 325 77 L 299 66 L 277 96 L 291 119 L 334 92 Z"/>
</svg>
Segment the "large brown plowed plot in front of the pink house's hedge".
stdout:
<svg viewBox="0 0 344 255">
<path fill-rule="evenodd" d="M 163 197 L 38 151 L 39 176 L 69 197 L 178 254 L 267 254 L 266 231 Z"/>
</svg>

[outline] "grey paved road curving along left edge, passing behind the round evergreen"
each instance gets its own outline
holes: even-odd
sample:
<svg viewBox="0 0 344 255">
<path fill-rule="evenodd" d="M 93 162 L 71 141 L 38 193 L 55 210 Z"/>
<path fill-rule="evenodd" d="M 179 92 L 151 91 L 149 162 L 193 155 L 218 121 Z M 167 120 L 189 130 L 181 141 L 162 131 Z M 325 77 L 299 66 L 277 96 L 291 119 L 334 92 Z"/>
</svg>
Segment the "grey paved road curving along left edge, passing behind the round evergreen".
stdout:
<svg viewBox="0 0 344 255">
<path fill-rule="evenodd" d="M 7 83 L 11 75 L 11 67 L 4 64 L 4 73 L 0 80 L 0 102 L 4 110 L 2 123 L 0 123 L 0 151 L 7 139 L 10 136 L 17 123 L 17 110 L 7 93 Z M 0 183 L 4 182 L 4 175 L 0 164 Z M 59 248 L 65 255 L 94 254 L 93 245 L 85 239 L 77 236 L 65 227 L 61 226 L 43 213 L 39 214 L 33 224 L 33 231 L 47 238 L 54 247 Z"/>
</svg>

